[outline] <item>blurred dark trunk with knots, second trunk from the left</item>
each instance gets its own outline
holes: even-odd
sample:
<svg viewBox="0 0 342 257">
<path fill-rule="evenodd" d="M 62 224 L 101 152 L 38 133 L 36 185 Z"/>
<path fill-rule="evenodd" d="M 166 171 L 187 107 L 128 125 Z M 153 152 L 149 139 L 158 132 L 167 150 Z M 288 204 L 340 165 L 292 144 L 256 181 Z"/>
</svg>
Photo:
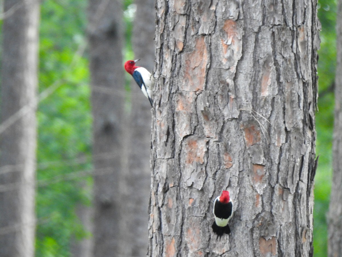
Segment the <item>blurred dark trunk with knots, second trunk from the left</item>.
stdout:
<svg viewBox="0 0 342 257">
<path fill-rule="evenodd" d="M 89 1 L 94 164 L 94 256 L 118 256 L 124 88 L 120 0 Z"/>
</svg>

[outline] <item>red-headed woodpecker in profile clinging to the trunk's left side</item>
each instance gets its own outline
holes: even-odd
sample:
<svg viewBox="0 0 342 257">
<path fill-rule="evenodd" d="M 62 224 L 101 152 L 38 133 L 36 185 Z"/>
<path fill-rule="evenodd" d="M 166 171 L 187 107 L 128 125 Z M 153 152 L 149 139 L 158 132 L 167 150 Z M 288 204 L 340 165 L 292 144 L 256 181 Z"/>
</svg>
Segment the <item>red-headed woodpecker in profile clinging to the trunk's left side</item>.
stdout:
<svg viewBox="0 0 342 257">
<path fill-rule="evenodd" d="M 134 61 L 129 60 L 125 62 L 125 70 L 133 76 L 136 84 L 138 84 L 141 91 L 143 91 L 144 95 L 148 98 L 152 106 L 152 88 L 154 85 L 154 79 L 151 73 L 149 73 L 145 68 L 135 66 L 135 62 L 139 60 L 140 59 Z"/>
</svg>

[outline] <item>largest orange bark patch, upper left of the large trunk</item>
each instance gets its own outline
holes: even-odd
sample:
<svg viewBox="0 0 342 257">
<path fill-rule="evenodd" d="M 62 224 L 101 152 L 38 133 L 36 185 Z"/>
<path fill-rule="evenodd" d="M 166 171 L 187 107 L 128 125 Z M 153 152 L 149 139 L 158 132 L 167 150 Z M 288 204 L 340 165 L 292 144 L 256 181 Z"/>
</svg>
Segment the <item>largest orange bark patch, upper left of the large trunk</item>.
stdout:
<svg viewBox="0 0 342 257">
<path fill-rule="evenodd" d="M 200 91 L 204 89 L 208 63 L 207 44 L 204 37 L 195 40 L 195 50 L 185 56 L 184 83 L 181 90 Z"/>
</svg>

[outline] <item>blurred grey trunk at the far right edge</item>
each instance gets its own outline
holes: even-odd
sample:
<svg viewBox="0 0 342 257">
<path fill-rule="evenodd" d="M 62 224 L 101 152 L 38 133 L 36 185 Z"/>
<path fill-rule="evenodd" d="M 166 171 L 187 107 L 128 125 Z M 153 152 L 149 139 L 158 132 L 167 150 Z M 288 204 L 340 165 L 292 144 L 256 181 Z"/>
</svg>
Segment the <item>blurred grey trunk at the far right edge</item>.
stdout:
<svg viewBox="0 0 342 257">
<path fill-rule="evenodd" d="M 336 21 L 337 66 L 335 77 L 335 120 L 332 143 L 333 180 L 328 215 L 328 255 L 342 256 L 342 0 Z"/>
</svg>

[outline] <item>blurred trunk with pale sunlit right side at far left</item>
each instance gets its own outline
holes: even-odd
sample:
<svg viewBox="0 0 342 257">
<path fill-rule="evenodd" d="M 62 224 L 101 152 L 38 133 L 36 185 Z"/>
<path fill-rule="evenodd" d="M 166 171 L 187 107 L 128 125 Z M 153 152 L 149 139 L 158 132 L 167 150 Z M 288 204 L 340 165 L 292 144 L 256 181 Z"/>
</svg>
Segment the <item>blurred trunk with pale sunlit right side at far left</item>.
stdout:
<svg viewBox="0 0 342 257">
<path fill-rule="evenodd" d="M 0 135 L 0 256 L 34 256 L 39 1 L 4 1 Z M 21 115 L 21 116 L 20 116 Z"/>
</svg>

